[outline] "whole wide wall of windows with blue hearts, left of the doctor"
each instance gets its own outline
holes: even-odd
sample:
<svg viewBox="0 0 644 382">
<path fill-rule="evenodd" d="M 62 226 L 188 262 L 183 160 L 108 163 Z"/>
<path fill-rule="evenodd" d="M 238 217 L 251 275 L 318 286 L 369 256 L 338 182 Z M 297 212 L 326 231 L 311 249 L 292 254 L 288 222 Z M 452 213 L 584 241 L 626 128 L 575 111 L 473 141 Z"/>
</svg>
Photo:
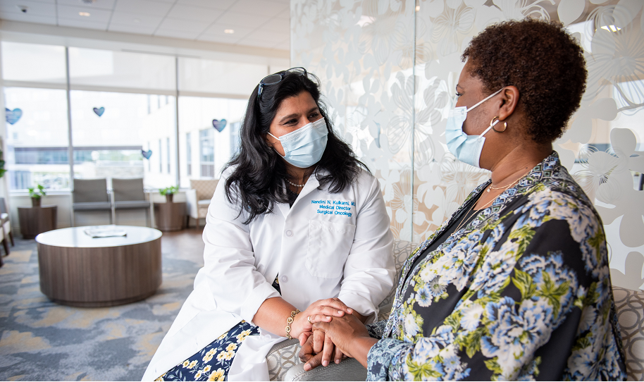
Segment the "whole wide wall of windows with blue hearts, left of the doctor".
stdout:
<svg viewBox="0 0 644 382">
<path fill-rule="evenodd" d="M 149 189 L 218 178 L 239 149 L 248 96 L 268 73 L 249 62 L 14 42 L 1 49 L 4 159 L 16 191 L 35 183 L 69 190 L 70 152 L 74 178 L 143 178 Z"/>
</svg>

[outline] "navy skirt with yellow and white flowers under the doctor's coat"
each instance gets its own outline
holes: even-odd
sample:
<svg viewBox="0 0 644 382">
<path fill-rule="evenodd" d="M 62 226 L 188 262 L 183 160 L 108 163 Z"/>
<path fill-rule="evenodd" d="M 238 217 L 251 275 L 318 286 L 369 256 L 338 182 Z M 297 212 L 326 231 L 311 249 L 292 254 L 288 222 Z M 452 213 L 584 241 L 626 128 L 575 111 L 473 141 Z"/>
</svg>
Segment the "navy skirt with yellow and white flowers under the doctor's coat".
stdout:
<svg viewBox="0 0 644 382">
<path fill-rule="evenodd" d="M 249 335 L 259 335 L 259 326 L 242 320 L 156 381 L 227 381 L 235 353 Z"/>
</svg>

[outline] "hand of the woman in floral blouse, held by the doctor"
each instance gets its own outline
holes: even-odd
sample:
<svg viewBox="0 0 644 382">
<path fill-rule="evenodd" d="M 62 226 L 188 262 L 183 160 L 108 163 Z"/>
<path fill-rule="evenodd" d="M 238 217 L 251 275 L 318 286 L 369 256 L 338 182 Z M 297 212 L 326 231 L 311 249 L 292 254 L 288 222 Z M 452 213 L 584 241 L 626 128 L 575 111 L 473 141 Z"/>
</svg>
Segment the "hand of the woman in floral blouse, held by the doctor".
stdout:
<svg viewBox="0 0 644 382">
<path fill-rule="evenodd" d="M 349 357 L 354 357 L 363 366 L 366 366 L 366 355 L 376 338 L 371 338 L 362 322 L 352 314 L 342 317 L 333 317 L 330 322 L 316 322 L 313 325 L 314 350 L 322 351 L 322 363 L 328 364 L 332 357 L 333 347 L 328 342 L 333 342 L 336 348 Z M 316 332 L 318 335 L 316 335 Z M 321 335 L 323 333 L 323 335 Z"/>
</svg>

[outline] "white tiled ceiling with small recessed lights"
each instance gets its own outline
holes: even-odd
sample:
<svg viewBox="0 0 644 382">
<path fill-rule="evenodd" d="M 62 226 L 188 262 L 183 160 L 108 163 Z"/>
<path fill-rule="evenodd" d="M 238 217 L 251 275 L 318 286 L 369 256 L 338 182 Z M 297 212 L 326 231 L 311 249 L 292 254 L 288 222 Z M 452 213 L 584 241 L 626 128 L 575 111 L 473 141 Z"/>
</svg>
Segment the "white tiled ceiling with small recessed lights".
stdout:
<svg viewBox="0 0 644 382">
<path fill-rule="evenodd" d="M 290 50 L 290 0 L 0 0 L 0 19 Z"/>
</svg>

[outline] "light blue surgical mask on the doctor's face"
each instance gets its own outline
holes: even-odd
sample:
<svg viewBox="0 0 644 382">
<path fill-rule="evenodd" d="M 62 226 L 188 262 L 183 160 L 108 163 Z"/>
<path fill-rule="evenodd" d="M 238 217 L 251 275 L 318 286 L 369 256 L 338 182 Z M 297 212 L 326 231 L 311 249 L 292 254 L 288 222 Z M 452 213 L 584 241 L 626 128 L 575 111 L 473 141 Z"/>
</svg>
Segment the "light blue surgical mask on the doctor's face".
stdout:
<svg viewBox="0 0 644 382">
<path fill-rule="evenodd" d="M 279 138 L 268 134 L 282 143 L 285 161 L 295 167 L 308 168 L 322 159 L 328 130 L 324 118 L 320 118 Z"/>
</svg>

